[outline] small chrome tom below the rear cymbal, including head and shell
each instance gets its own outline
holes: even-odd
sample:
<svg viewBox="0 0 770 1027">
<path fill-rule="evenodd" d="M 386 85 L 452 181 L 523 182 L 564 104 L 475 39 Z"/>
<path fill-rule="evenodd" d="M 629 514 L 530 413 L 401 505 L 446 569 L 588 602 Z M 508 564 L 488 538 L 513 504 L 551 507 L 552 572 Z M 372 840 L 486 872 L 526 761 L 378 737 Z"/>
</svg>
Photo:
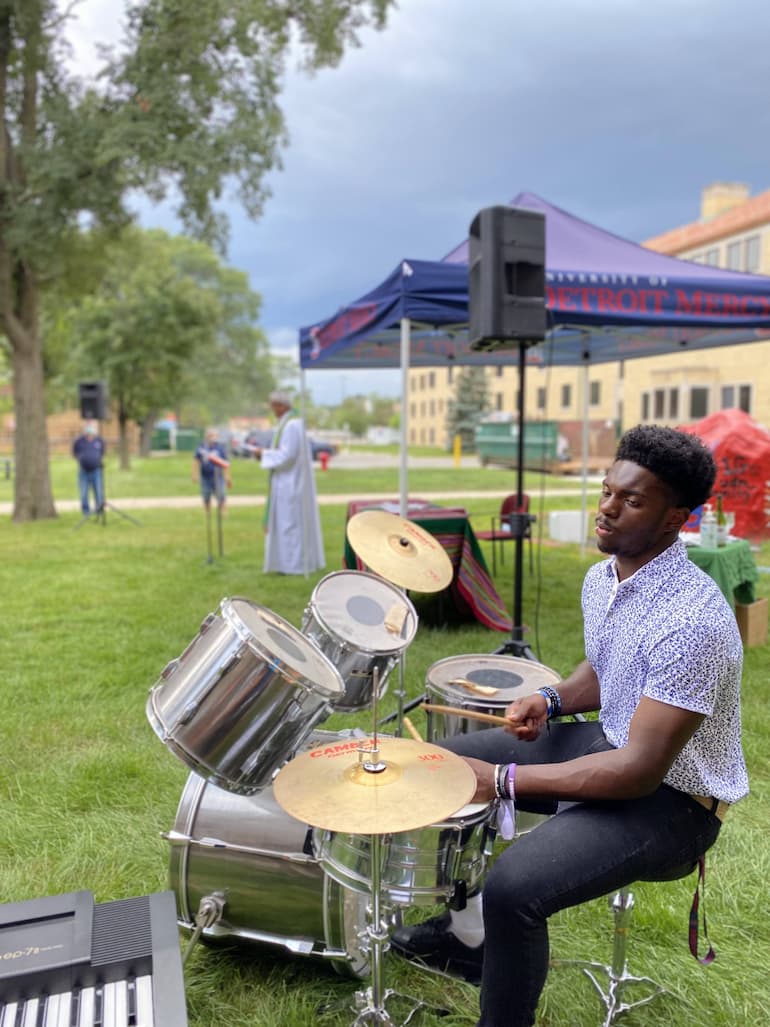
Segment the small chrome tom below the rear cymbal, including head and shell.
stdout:
<svg viewBox="0 0 770 1027">
<path fill-rule="evenodd" d="M 417 631 L 417 612 L 409 597 L 384 578 L 367 571 L 335 571 L 313 589 L 305 609 L 303 634 L 334 663 L 344 694 L 336 711 L 363 710 L 374 697 L 378 672 L 380 698 L 388 674 Z"/>
</svg>

